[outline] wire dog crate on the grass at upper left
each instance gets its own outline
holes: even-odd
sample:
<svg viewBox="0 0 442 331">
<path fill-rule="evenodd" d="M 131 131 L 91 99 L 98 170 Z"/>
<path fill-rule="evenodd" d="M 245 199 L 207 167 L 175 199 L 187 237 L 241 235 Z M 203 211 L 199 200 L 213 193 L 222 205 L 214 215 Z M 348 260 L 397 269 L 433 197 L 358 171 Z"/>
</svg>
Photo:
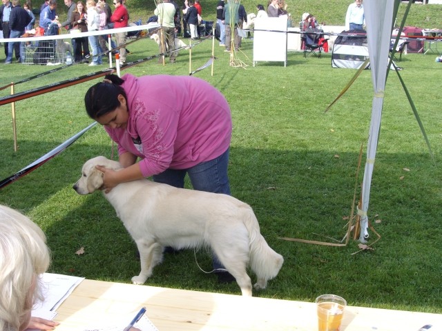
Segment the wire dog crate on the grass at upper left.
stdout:
<svg viewBox="0 0 442 331">
<path fill-rule="evenodd" d="M 66 48 L 62 39 L 24 42 L 21 63 L 41 64 L 66 63 Z"/>
</svg>

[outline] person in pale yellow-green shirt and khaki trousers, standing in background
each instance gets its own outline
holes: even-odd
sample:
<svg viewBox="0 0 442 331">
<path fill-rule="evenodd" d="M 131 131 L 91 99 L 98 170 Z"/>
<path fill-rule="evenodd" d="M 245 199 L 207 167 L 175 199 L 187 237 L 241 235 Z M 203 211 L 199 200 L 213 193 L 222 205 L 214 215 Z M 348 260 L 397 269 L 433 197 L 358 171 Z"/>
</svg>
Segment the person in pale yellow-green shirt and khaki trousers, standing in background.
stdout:
<svg viewBox="0 0 442 331">
<path fill-rule="evenodd" d="M 160 53 L 166 54 L 166 43 L 169 46 L 169 61 L 175 63 L 176 53 L 172 52 L 175 48 L 175 6 L 169 0 L 163 0 L 162 3 L 158 3 L 157 8 L 154 10 L 154 14 L 158 17 L 158 23 L 161 24 L 160 31 Z M 162 64 L 164 61 L 164 55 L 158 57 L 158 63 Z"/>
</svg>

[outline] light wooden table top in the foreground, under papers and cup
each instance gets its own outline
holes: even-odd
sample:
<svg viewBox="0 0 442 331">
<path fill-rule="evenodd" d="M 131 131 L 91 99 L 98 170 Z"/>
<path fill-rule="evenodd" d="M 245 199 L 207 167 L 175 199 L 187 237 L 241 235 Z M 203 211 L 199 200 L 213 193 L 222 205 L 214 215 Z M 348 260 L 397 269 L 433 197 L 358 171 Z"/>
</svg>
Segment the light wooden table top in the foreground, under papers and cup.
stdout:
<svg viewBox="0 0 442 331">
<path fill-rule="evenodd" d="M 81 331 L 115 314 L 134 314 L 142 306 L 158 330 L 316 331 L 314 303 L 241 297 L 85 279 L 58 308 L 57 331 Z M 347 307 L 345 331 L 417 331 L 441 325 L 442 314 Z"/>
</svg>

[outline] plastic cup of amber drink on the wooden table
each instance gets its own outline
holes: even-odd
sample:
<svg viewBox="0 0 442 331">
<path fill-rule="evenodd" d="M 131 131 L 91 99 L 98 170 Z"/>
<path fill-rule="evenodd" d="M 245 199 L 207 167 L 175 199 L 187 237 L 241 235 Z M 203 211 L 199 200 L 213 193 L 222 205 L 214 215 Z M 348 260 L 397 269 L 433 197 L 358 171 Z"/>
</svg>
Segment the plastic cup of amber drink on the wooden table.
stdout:
<svg viewBox="0 0 442 331">
<path fill-rule="evenodd" d="M 334 294 L 323 294 L 317 297 L 318 331 L 339 331 L 346 305 L 345 299 Z"/>
</svg>

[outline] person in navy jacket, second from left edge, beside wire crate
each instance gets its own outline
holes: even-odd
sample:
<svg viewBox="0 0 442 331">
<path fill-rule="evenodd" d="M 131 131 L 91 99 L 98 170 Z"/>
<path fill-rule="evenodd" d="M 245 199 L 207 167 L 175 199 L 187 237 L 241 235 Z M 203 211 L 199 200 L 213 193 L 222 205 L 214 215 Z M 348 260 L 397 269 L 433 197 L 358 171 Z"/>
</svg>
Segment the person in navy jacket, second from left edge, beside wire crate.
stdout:
<svg viewBox="0 0 442 331">
<path fill-rule="evenodd" d="M 26 12 L 26 9 L 21 8 L 20 0 L 12 0 L 12 10 L 9 17 L 9 30 L 10 38 L 19 38 L 25 33 L 25 28 L 30 23 L 31 18 Z M 17 54 L 17 48 L 15 48 L 15 57 L 17 61 L 20 62 L 21 52 L 23 50 L 23 43 L 17 43 L 12 41 L 8 43 L 8 57 L 6 57 L 5 64 L 10 64 L 12 62 L 12 50 L 14 50 L 14 46 L 17 44 L 19 46 L 19 54 Z"/>
</svg>

